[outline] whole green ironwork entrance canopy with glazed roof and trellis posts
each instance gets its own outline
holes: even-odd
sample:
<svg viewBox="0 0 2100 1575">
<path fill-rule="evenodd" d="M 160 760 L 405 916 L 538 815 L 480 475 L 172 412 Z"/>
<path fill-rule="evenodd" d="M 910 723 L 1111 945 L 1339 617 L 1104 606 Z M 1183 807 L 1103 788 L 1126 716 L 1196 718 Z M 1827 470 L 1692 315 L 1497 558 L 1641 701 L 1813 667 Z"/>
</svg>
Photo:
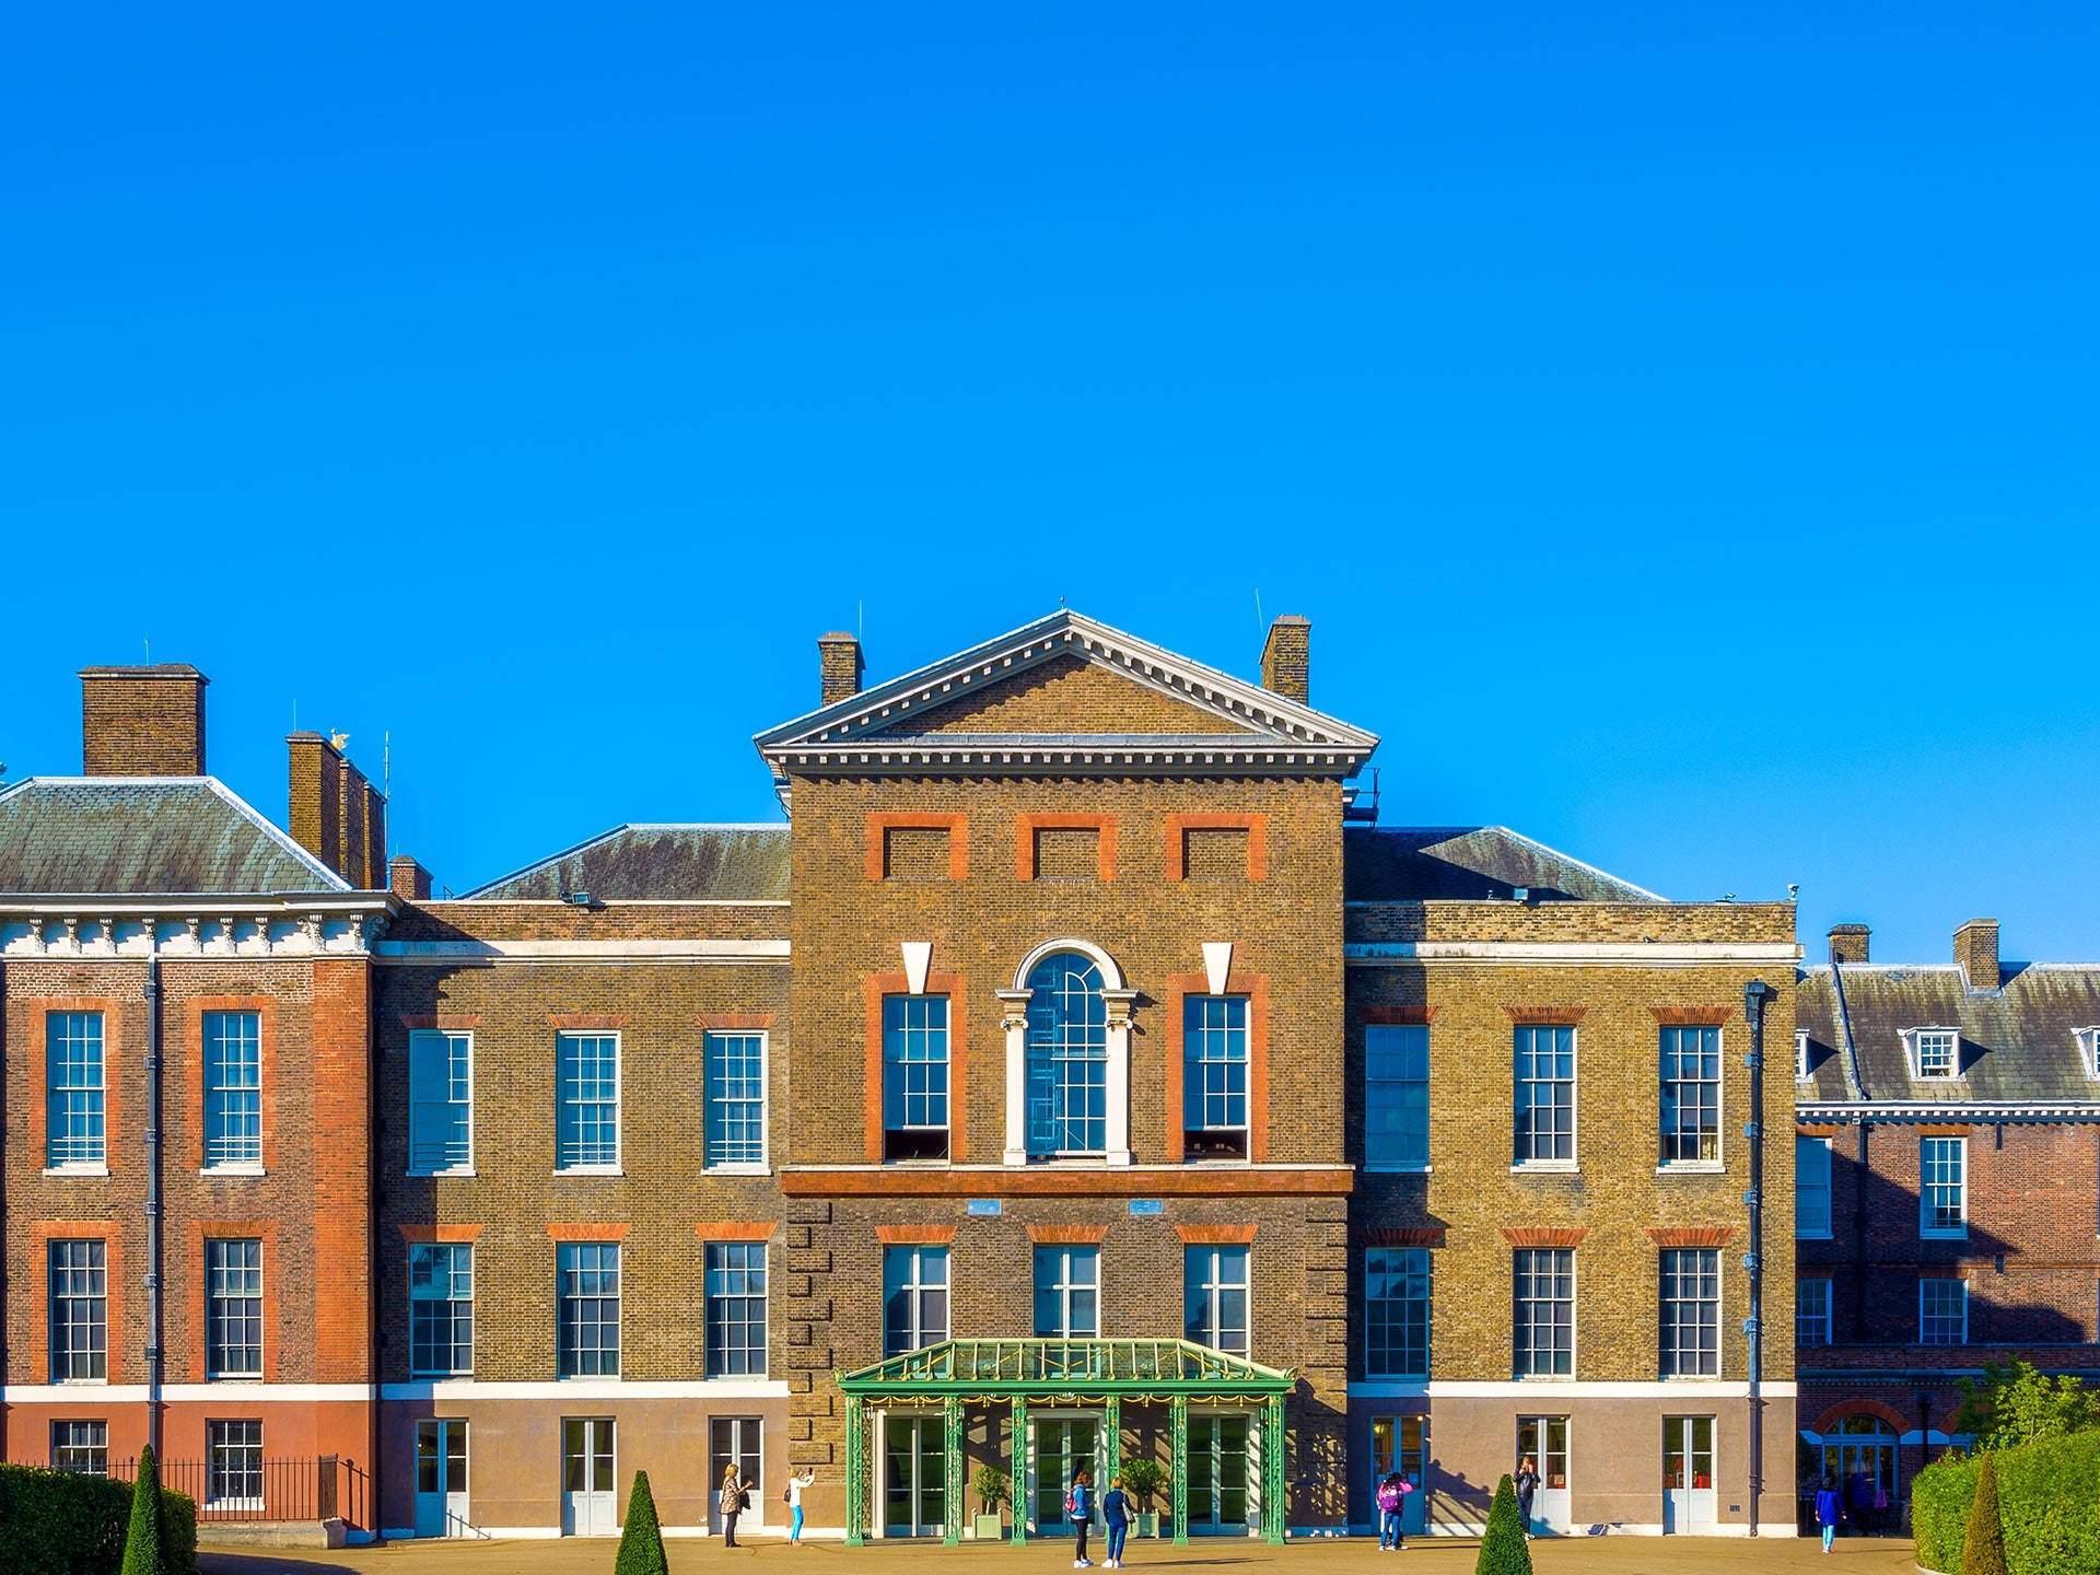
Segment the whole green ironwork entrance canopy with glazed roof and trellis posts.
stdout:
<svg viewBox="0 0 2100 1575">
<path fill-rule="evenodd" d="M 850 1373 L 834 1373 L 846 1401 L 846 1546 L 867 1537 L 876 1483 L 869 1420 L 874 1411 L 930 1409 L 943 1418 L 947 1455 L 943 1541 L 962 1541 L 964 1409 L 1010 1411 L 1014 1483 L 1027 1476 L 1029 1409 L 1100 1407 L 1109 1474 L 1124 1449 L 1126 1401 L 1163 1403 L 1170 1438 L 1172 1537 L 1189 1541 L 1189 1407 L 1233 1405 L 1260 1418 L 1262 1535 L 1283 1541 L 1283 1401 L 1296 1369 L 1262 1367 L 1191 1340 L 943 1340 Z M 1027 1541 L 1027 1516 L 1014 1506 L 1012 1541 Z"/>
</svg>

